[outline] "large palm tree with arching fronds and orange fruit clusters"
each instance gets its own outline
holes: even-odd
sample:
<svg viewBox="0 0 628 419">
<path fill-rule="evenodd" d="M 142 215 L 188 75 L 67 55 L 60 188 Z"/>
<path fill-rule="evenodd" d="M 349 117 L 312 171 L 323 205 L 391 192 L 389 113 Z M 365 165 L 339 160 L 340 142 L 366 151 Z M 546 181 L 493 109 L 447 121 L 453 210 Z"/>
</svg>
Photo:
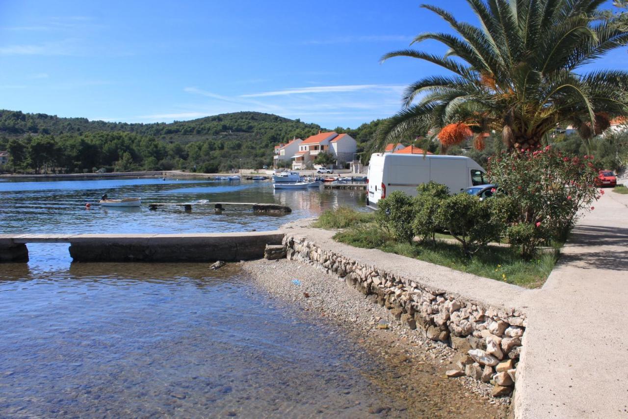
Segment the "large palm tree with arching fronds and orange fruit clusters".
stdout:
<svg viewBox="0 0 628 419">
<path fill-rule="evenodd" d="M 628 43 L 628 32 L 602 18 L 604 0 L 467 0 L 480 20 L 473 26 L 436 6 L 423 5 L 453 28 L 423 33 L 449 50 L 387 53 L 440 65 L 453 75 L 425 77 L 406 88 L 403 109 L 379 130 L 381 150 L 406 133 L 438 134 L 443 145 L 495 130 L 509 149 L 539 147 L 549 131 L 570 124 L 591 138 L 628 115 L 628 72 L 578 72 Z M 446 129 L 443 129 L 446 128 Z M 546 139 L 546 138 L 545 138 Z"/>
</svg>

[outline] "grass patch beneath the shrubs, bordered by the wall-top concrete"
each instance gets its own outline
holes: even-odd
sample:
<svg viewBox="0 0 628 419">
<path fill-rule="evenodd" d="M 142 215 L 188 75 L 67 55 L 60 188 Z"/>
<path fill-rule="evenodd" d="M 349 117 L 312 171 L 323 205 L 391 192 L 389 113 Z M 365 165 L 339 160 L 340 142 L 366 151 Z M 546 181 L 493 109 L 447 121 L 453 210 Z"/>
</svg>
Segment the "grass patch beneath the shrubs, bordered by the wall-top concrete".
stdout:
<svg viewBox="0 0 628 419">
<path fill-rule="evenodd" d="M 442 236 L 447 237 L 447 235 Z M 425 262 L 447 266 L 456 271 L 468 272 L 526 288 L 538 288 L 543 285 L 558 259 L 558 250 L 539 252 L 533 260 L 522 260 L 509 247 L 498 246 L 488 246 L 468 259 L 462 254 L 460 245 L 456 243 L 436 242 L 435 246 L 397 243 L 391 235 L 374 223 L 347 228 L 336 233 L 333 238 L 355 247 L 379 249 L 425 260 Z"/>
</svg>

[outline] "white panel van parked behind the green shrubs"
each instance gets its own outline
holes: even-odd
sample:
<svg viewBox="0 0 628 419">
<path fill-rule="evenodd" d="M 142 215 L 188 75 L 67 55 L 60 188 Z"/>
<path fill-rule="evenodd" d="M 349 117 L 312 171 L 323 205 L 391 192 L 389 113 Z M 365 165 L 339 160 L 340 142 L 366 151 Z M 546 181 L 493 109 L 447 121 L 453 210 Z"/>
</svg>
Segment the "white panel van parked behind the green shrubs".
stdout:
<svg viewBox="0 0 628 419">
<path fill-rule="evenodd" d="M 466 187 L 488 183 L 486 172 L 474 160 L 457 155 L 376 153 L 371 155 L 366 204 L 377 209 L 377 201 L 393 191 L 416 196 L 416 187 L 434 181 L 456 194 Z"/>
</svg>

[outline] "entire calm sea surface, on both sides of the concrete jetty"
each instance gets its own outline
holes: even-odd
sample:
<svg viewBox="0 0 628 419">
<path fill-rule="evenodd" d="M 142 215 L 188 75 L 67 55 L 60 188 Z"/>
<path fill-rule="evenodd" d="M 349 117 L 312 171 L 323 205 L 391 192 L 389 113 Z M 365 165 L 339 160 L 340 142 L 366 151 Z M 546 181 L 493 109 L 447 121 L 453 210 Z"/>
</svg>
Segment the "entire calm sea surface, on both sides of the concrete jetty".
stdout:
<svg viewBox="0 0 628 419">
<path fill-rule="evenodd" d="M 85 210 L 104 193 L 282 203 L 293 213 Z M 1 181 L 0 231 L 272 230 L 362 199 L 274 192 L 268 182 Z M 332 325 L 274 303 L 237 265 L 72 264 L 65 244 L 29 250 L 27 264 L 0 265 L 1 417 L 355 417 L 399 407 L 372 384 L 384 366 Z"/>
</svg>

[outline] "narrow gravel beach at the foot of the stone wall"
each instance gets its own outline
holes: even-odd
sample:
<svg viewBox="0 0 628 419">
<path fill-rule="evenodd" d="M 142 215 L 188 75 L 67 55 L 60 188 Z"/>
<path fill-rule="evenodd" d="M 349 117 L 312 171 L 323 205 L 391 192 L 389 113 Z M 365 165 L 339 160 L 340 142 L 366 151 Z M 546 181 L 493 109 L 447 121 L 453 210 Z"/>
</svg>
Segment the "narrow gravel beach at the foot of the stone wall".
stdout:
<svg viewBox="0 0 628 419">
<path fill-rule="evenodd" d="M 295 314 L 310 312 L 336 325 L 386 368 L 372 380 L 393 394 L 403 410 L 383 406 L 373 412 L 400 417 L 506 418 L 509 399 L 490 396 L 490 385 L 469 377 L 447 378 L 457 354 L 447 345 L 423 338 L 401 325 L 389 310 L 368 301 L 337 277 L 310 265 L 281 260 L 241 264 L 261 289 Z"/>
</svg>

